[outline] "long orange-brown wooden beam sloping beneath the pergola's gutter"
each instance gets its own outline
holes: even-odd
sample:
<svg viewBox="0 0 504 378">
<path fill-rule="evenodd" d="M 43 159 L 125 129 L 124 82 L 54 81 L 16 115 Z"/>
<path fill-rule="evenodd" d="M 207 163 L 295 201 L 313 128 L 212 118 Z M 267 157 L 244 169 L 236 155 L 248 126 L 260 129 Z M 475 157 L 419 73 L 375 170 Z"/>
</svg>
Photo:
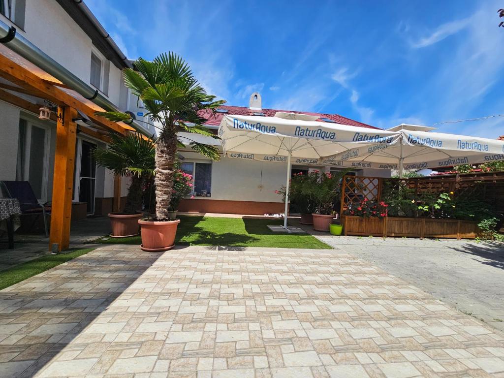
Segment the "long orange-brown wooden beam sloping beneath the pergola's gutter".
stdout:
<svg viewBox="0 0 504 378">
<path fill-rule="evenodd" d="M 93 122 L 103 125 L 109 130 L 125 134 L 133 128 L 124 123 L 111 122 L 108 119 L 95 115 L 96 110 L 71 96 L 64 90 L 57 88 L 31 71 L 18 65 L 8 57 L 0 54 L 0 77 L 9 80 L 24 89 L 29 90 L 32 96 L 46 99 L 58 106 L 70 106 L 86 114 Z"/>
</svg>

